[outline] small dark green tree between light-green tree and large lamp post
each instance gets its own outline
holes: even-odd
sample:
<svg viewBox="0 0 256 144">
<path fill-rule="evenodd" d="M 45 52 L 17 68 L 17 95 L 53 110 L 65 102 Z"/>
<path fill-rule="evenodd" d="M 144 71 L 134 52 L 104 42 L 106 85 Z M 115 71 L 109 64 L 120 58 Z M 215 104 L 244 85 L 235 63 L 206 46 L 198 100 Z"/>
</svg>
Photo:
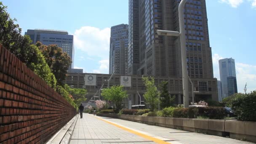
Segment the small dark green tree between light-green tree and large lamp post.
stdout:
<svg viewBox="0 0 256 144">
<path fill-rule="evenodd" d="M 171 107 L 174 105 L 175 96 L 171 96 L 168 91 L 168 81 L 162 81 L 160 84 L 160 104 L 161 108 Z"/>
</svg>

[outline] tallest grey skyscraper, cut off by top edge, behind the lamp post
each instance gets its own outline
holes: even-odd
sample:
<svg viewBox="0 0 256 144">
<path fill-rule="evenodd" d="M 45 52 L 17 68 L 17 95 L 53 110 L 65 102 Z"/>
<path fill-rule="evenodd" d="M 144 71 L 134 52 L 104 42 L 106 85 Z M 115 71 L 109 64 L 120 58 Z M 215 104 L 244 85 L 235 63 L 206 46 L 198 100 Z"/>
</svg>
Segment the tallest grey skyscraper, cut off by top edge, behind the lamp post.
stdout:
<svg viewBox="0 0 256 144">
<path fill-rule="evenodd" d="M 129 0 L 128 74 L 181 77 L 178 37 L 157 29 L 179 31 L 181 0 Z M 205 0 L 188 0 L 184 10 L 187 71 L 191 78 L 213 78 Z"/>
</svg>

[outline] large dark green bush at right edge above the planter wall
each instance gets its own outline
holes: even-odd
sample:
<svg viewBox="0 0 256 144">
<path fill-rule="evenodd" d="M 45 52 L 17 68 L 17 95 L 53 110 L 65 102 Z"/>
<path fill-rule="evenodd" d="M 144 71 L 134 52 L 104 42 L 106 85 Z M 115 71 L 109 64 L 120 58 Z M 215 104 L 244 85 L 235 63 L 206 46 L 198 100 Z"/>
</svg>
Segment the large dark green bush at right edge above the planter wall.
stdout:
<svg viewBox="0 0 256 144">
<path fill-rule="evenodd" d="M 231 105 L 238 120 L 256 121 L 256 91 L 232 99 Z"/>
</svg>

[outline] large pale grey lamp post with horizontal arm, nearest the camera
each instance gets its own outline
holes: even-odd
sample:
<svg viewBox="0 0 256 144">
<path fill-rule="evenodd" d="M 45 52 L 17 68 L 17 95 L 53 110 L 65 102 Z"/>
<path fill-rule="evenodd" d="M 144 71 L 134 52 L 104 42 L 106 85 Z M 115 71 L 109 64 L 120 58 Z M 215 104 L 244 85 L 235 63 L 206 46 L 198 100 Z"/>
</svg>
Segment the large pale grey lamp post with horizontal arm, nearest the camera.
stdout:
<svg viewBox="0 0 256 144">
<path fill-rule="evenodd" d="M 157 30 L 158 35 L 180 37 L 181 41 L 181 66 L 182 66 L 182 87 L 183 87 L 183 104 L 184 107 L 189 107 L 189 90 L 188 90 L 188 75 L 187 75 L 187 53 L 185 48 L 185 28 L 184 28 L 184 5 L 187 0 L 181 0 L 179 4 L 179 29 L 180 32 Z"/>
</svg>

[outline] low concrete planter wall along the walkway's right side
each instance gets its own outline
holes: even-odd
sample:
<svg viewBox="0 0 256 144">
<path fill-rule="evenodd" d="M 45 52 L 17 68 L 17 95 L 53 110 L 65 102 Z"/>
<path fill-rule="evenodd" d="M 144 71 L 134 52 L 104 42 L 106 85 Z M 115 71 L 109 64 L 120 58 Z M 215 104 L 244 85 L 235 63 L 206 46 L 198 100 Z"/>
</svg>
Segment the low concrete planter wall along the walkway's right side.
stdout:
<svg viewBox="0 0 256 144">
<path fill-rule="evenodd" d="M 208 120 L 172 117 L 147 117 L 137 115 L 97 114 L 103 117 L 118 117 L 123 120 L 176 128 L 184 131 L 206 133 L 216 136 L 229 136 L 232 139 L 244 139 L 256 142 L 256 122 L 234 120 Z"/>
</svg>

